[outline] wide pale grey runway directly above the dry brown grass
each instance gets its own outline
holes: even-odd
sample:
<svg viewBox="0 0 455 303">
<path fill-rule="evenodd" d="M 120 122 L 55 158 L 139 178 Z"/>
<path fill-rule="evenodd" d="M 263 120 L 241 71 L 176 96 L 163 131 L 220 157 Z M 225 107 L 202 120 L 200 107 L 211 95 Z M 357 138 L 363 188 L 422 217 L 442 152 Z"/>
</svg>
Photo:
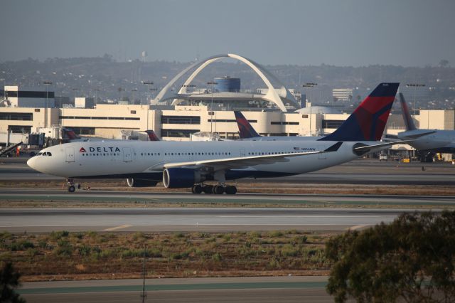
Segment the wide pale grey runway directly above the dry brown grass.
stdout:
<svg viewBox="0 0 455 303">
<path fill-rule="evenodd" d="M 0 210 L 0 230 L 104 232 L 346 230 L 390 223 L 410 210 L 323 208 L 15 208 Z"/>
</svg>

